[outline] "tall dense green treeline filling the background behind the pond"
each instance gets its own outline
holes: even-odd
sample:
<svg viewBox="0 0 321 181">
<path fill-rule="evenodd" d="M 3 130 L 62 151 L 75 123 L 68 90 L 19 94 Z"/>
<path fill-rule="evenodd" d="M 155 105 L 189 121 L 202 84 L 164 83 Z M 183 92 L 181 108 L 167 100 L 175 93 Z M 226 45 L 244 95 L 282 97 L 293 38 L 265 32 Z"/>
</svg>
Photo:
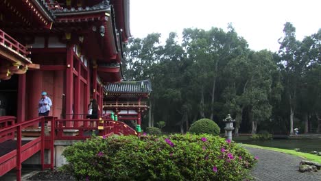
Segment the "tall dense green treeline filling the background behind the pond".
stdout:
<svg viewBox="0 0 321 181">
<path fill-rule="evenodd" d="M 283 32 L 277 52 L 249 49 L 231 25 L 184 29 L 181 42 L 171 33 L 165 45 L 160 34 L 130 39 L 124 75 L 153 87 L 144 126 L 165 121 L 163 131 L 186 132 L 207 118 L 223 130 L 230 113 L 236 133 L 321 132 L 321 29 L 302 41 L 291 23 Z"/>
</svg>

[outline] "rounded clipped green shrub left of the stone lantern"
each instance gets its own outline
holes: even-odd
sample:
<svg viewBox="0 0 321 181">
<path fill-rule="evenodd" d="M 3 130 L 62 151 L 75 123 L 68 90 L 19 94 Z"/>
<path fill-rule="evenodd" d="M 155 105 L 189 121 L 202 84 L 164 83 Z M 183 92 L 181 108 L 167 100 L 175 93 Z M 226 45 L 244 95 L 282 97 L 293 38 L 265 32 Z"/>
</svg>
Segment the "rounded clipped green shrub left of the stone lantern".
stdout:
<svg viewBox="0 0 321 181">
<path fill-rule="evenodd" d="M 219 129 L 219 126 L 217 123 L 212 121 L 211 119 L 200 119 L 198 121 L 195 121 L 191 125 L 191 128 L 189 128 L 189 132 L 194 134 L 213 134 L 217 135 L 219 134 L 221 129 Z"/>
</svg>

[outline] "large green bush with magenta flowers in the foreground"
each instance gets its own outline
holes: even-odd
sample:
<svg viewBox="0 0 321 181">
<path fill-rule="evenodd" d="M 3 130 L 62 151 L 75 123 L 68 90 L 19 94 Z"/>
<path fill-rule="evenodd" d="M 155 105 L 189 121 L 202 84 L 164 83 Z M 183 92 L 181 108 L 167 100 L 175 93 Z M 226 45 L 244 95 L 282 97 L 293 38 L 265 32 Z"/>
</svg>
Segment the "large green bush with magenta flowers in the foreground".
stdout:
<svg viewBox="0 0 321 181">
<path fill-rule="evenodd" d="M 219 136 L 93 136 L 67 147 L 78 180 L 243 180 L 255 160 Z"/>
</svg>

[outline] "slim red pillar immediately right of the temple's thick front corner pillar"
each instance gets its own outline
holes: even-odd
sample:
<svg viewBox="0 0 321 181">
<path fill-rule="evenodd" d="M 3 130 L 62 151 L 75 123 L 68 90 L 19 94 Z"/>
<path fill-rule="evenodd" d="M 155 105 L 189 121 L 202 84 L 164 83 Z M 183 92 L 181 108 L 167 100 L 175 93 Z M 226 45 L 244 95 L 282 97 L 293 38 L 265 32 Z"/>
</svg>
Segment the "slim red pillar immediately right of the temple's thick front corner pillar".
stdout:
<svg viewBox="0 0 321 181">
<path fill-rule="evenodd" d="M 76 56 L 76 55 L 74 55 Z M 75 64 L 75 69 L 78 71 L 78 76 L 77 79 L 75 80 L 75 119 L 80 119 L 80 61 L 78 59 L 76 59 L 77 62 Z M 75 122 L 75 126 L 78 127 L 78 122 Z"/>
</svg>

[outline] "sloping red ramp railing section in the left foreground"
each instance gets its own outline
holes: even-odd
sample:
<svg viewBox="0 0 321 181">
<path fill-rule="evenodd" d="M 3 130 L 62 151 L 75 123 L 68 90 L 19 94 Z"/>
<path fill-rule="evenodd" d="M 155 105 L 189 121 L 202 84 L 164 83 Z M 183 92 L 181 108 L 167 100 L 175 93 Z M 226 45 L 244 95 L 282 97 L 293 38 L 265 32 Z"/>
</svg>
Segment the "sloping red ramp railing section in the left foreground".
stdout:
<svg viewBox="0 0 321 181">
<path fill-rule="evenodd" d="M 34 138 L 34 140 L 29 141 L 29 143 L 26 143 L 25 145 L 22 145 L 23 128 L 27 128 L 38 123 L 42 123 L 42 125 L 44 125 L 45 119 L 50 121 L 51 125 L 53 125 L 51 126 L 50 135 L 45 135 L 45 127 L 43 126 L 39 137 Z M 43 169 L 53 169 L 54 119 L 55 118 L 53 117 L 38 117 L 23 123 L 16 123 L 9 125 L 6 128 L 1 128 L 0 137 L 2 143 L 16 139 L 16 149 L 0 157 L 0 176 L 3 176 L 3 174 L 7 173 L 11 169 L 16 168 L 16 180 L 21 180 L 21 163 L 27 160 L 30 156 L 36 154 L 38 151 L 40 151 L 40 163 L 43 165 Z M 47 146 L 47 148 L 51 151 L 49 164 L 45 164 L 45 140 L 49 141 L 49 146 Z"/>
</svg>

